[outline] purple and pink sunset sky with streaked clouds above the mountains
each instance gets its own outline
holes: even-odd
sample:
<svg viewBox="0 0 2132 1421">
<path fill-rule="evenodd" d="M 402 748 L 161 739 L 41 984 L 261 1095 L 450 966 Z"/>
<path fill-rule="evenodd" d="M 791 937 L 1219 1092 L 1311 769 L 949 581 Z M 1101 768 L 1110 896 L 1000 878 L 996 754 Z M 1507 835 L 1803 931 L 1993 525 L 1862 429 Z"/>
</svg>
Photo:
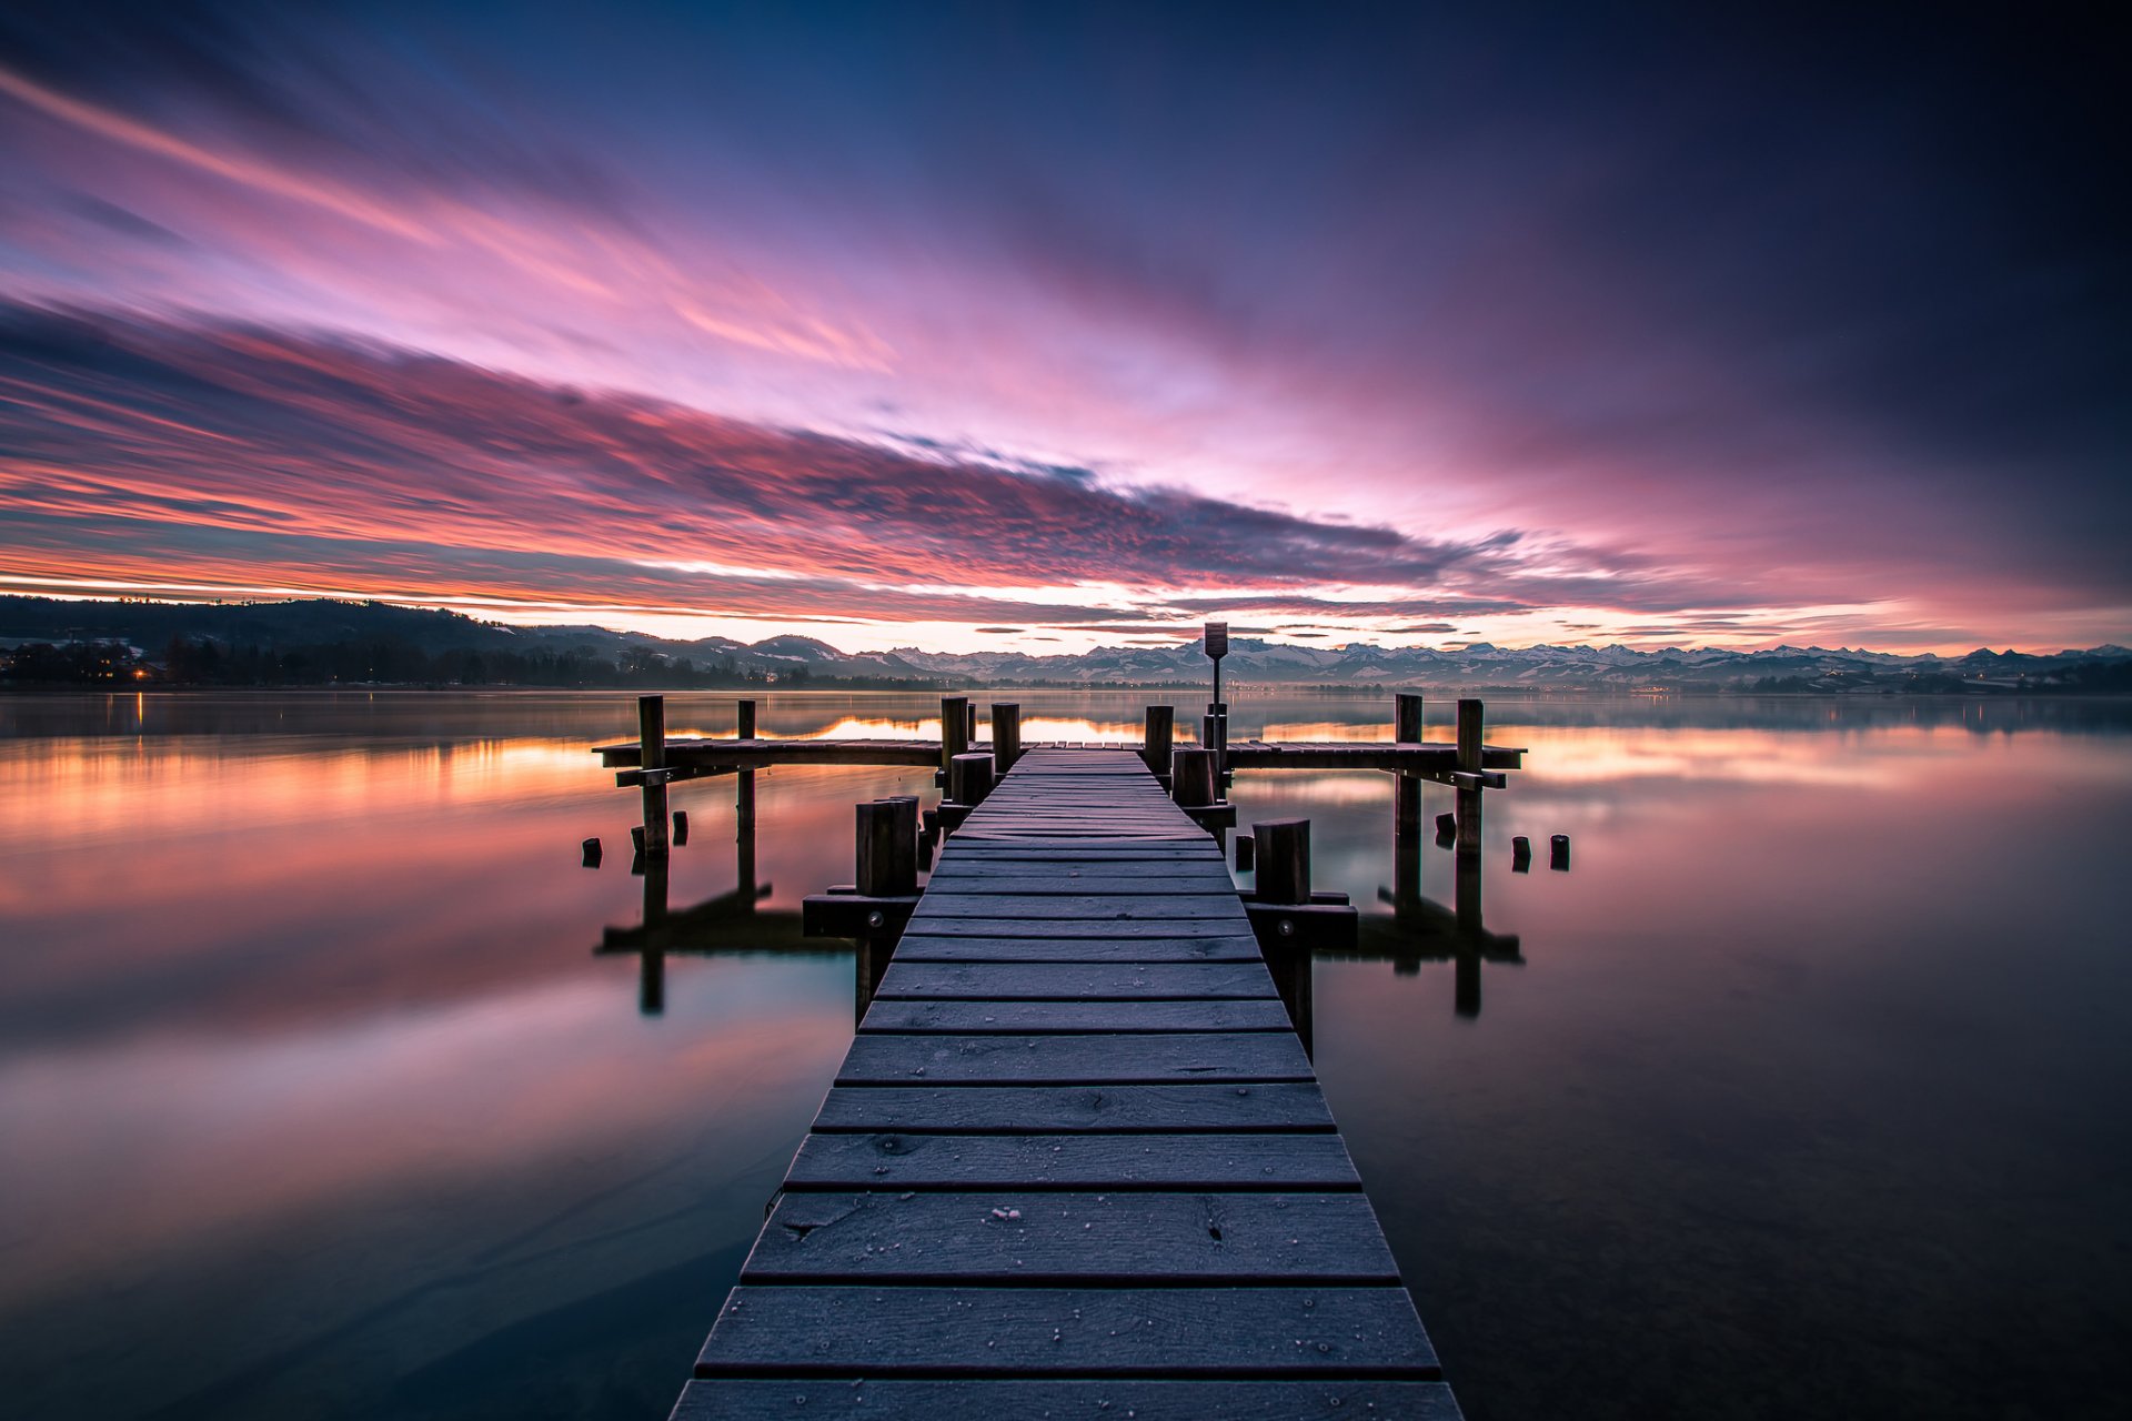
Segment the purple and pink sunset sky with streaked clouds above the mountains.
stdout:
<svg viewBox="0 0 2132 1421">
<path fill-rule="evenodd" d="M 2132 641 L 2102 6 L 1605 9 L 11 4 L 0 592 Z"/>
</svg>

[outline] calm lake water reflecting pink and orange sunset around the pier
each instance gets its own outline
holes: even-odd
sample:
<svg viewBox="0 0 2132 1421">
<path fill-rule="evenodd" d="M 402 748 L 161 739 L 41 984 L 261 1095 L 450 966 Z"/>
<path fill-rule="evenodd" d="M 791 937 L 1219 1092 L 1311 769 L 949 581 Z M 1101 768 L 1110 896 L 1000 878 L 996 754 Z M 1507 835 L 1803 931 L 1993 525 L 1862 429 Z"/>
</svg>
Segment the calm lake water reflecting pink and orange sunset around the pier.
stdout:
<svg viewBox="0 0 2132 1421">
<path fill-rule="evenodd" d="M 1151 697 L 1013 699 L 1136 739 Z M 938 701 L 761 707 L 919 735 Z M 1488 712 L 1531 754 L 1465 982 L 1379 901 L 1386 775 L 1232 795 L 1309 816 L 1375 918 L 1315 969 L 1318 1069 L 1467 1415 L 2132 1415 L 2132 707 Z M 731 697 L 667 716 L 731 733 Z M 787 914 L 851 880 L 853 801 L 932 788 L 759 775 L 763 950 L 669 957 L 648 1014 L 640 954 L 595 954 L 646 912 L 586 754 L 633 718 L 0 697 L 6 1415 L 665 1415 L 851 1040 L 851 952 Z M 1232 737 L 1388 720 L 1247 695 Z M 676 790 L 669 908 L 736 886 L 731 795 Z"/>
</svg>

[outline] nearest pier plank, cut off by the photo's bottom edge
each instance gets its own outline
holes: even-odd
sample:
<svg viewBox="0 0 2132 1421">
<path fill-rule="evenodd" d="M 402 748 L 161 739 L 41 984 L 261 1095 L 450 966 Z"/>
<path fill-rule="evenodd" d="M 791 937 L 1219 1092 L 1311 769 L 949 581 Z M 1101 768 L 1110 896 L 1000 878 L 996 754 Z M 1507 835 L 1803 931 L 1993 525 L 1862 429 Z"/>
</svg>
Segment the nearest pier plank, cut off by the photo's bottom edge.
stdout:
<svg viewBox="0 0 2132 1421">
<path fill-rule="evenodd" d="M 1460 1421 L 1441 1381 L 691 1381 L 669 1421 Z"/>
</svg>

